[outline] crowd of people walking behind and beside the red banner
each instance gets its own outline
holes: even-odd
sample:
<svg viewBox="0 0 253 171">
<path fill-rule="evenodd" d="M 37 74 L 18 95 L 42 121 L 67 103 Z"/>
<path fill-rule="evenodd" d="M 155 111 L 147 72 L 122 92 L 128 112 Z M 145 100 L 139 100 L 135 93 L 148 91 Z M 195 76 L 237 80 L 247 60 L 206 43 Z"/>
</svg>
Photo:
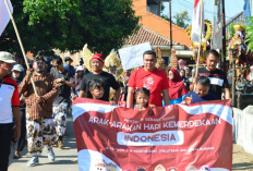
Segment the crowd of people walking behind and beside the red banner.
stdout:
<svg viewBox="0 0 253 171">
<path fill-rule="evenodd" d="M 222 91 L 225 99 L 230 99 L 230 85 L 227 75 L 216 68 L 219 53 L 214 49 L 197 75 L 186 65 L 166 72 L 157 69 L 152 50 L 144 52 L 143 66 L 125 70 L 120 81 L 103 70 L 100 53 L 93 56 L 92 71 L 85 65 L 74 68 L 72 62 L 70 57 L 49 58 L 39 51 L 27 68 L 24 60 L 14 61 L 11 53 L 0 52 L 0 170 L 8 170 L 10 145 L 15 143 L 13 158 L 19 159 L 27 142 L 32 156 L 28 167 L 39 163 L 43 148 L 53 161 L 52 148 L 64 148 L 68 113 L 77 97 L 135 110 L 217 100 Z"/>
</svg>

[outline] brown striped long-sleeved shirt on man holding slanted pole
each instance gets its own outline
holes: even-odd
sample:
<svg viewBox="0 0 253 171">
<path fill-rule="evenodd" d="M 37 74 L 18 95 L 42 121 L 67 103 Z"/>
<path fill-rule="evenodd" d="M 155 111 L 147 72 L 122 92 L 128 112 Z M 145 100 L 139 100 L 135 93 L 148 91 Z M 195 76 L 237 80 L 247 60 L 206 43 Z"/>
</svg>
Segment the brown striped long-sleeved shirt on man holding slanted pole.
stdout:
<svg viewBox="0 0 253 171">
<path fill-rule="evenodd" d="M 32 121 L 52 115 L 52 102 L 58 96 L 58 86 L 51 74 L 37 75 L 34 73 L 33 78 L 38 96 L 45 98 L 44 102 L 36 101 L 34 88 L 27 75 L 19 85 L 20 93 L 27 94 L 25 97 L 26 111 L 29 113 Z"/>
</svg>

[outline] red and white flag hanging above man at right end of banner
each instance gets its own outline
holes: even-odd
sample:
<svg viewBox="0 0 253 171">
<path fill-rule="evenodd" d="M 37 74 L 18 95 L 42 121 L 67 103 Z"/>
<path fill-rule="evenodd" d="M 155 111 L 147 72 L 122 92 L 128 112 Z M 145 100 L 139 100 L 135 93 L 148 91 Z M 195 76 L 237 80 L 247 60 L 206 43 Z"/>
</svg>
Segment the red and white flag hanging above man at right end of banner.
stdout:
<svg viewBox="0 0 253 171">
<path fill-rule="evenodd" d="M 205 0 L 203 0 L 204 3 Z M 200 42 L 201 34 L 201 2 L 202 0 L 194 0 L 194 10 L 192 15 L 192 41 Z M 204 7 L 204 4 L 203 4 Z M 202 25 L 202 36 L 204 35 L 204 8 L 203 8 L 203 25 Z M 204 37 L 204 36 L 203 36 Z"/>
</svg>

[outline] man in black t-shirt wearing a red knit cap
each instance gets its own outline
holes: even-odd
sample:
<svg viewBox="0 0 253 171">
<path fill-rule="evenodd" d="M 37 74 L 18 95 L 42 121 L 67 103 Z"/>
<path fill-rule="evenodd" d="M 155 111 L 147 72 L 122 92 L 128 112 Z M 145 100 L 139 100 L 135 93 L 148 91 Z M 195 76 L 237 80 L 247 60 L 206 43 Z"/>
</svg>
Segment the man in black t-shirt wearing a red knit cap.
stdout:
<svg viewBox="0 0 253 171">
<path fill-rule="evenodd" d="M 116 81 L 113 75 L 103 71 L 103 65 L 104 65 L 103 54 L 100 53 L 94 54 L 91 62 L 92 62 L 93 72 L 84 75 L 82 85 L 80 88 L 81 91 L 80 91 L 79 97 L 85 97 L 85 91 L 88 90 L 86 89 L 88 81 L 98 78 L 98 80 L 101 80 L 105 85 L 104 87 L 105 94 L 104 94 L 103 99 L 105 101 L 109 101 L 110 87 L 112 87 L 113 89 L 116 89 L 116 98 L 115 98 L 115 101 L 111 101 L 111 105 L 118 105 L 119 97 L 120 97 L 120 85 Z"/>
</svg>

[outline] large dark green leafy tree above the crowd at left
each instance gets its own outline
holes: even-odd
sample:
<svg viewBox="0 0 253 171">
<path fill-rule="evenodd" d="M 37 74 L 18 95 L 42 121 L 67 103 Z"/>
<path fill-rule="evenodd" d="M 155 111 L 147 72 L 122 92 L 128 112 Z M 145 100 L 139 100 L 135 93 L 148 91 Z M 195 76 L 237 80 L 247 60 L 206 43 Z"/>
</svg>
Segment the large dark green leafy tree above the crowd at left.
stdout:
<svg viewBox="0 0 253 171">
<path fill-rule="evenodd" d="M 55 48 L 76 52 L 87 42 L 106 56 L 122 46 L 140 20 L 132 0 L 12 0 L 12 5 L 24 48 L 33 53 Z M 5 32 L 0 50 L 21 54 L 11 23 Z"/>
</svg>

